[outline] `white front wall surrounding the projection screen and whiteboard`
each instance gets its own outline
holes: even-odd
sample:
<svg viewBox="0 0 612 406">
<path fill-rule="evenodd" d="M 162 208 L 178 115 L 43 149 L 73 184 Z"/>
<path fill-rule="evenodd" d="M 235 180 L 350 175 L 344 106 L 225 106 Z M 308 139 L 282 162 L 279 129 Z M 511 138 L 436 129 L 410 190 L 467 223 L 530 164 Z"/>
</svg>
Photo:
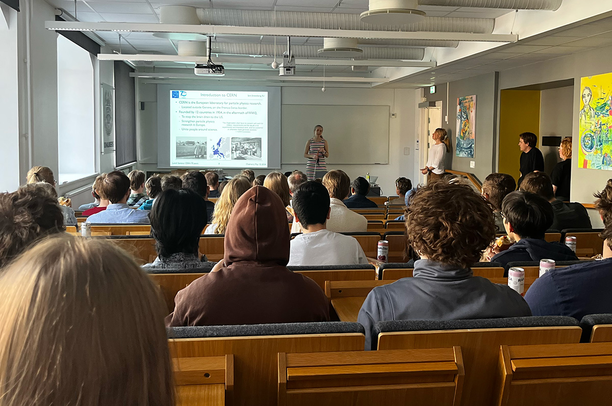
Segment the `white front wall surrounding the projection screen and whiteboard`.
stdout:
<svg viewBox="0 0 612 406">
<path fill-rule="evenodd" d="M 164 171 L 157 167 L 157 155 L 151 153 L 151 145 L 157 145 L 157 89 L 155 84 L 144 83 L 142 79 L 136 80 L 136 103 L 144 102 L 144 111 L 138 110 L 138 169 L 142 171 Z M 394 101 L 395 94 L 395 101 Z M 321 92 L 320 87 L 282 87 L 282 105 L 385 105 L 391 106 L 396 118 L 389 119 L 389 164 L 360 165 L 342 164 L 328 166 L 328 170 L 341 169 L 351 179 L 370 172 L 378 176 L 378 183 L 383 194 L 395 194 L 395 179 L 400 176 L 415 179 L 414 173 L 414 140 L 417 131 L 417 90 L 412 89 L 354 89 L 348 87 L 327 87 Z M 394 108 L 395 106 L 395 108 Z M 281 117 L 281 120 L 283 117 Z M 338 117 L 341 119 L 341 117 Z M 330 134 L 329 136 L 334 136 Z M 351 140 L 346 140 L 351 142 Z M 144 145 L 149 147 L 143 148 Z M 404 148 L 409 147 L 409 155 L 404 155 Z M 333 152 L 332 152 L 333 153 Z M 282 158 L 281 158 L 282 161 Z M 203 168 L 205 169 L 205 168 Z M 306 170 L 304 164 L 281 165 L 280 171 Z M 267 174 L 271 169 L 254 169 L 255 174 Z M 237 174 L 239 169 L 227 169 L 228 175 Z"/>
</svg>

